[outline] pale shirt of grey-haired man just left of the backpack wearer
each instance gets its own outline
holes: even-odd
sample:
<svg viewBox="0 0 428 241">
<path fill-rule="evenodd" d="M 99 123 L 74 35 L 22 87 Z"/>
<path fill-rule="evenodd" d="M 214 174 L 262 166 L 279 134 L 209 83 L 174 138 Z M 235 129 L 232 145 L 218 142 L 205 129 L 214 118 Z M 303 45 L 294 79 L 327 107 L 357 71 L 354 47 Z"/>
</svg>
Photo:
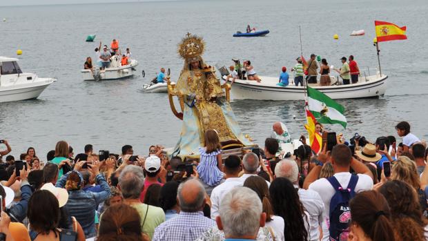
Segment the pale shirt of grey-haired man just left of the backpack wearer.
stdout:
<svg viewBox="0 0 428 241">
<path fill-rule="evenodd" d="M 324 202 L 322 202 L 320 194 L 312 190 L 299 189 L 298 194 L 300 202 L 302 202 L 309 215 L 309 240 L 318 240 L 320 238 L 318 227 L 320 224 L 322 225 L 325 218 Z"/>
</svg>

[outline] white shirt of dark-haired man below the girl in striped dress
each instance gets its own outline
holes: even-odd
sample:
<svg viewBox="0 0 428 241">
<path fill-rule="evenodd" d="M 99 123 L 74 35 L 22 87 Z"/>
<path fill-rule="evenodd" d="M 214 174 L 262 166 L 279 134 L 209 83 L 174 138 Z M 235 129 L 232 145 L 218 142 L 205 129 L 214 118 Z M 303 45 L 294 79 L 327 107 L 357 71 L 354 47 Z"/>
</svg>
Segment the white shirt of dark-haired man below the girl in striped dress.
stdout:
<svg viewBox="0 0 428 241">
<path fill-rule="evenodd" d="M 231 191 L 235 186 L 242 186 L 240 177 L 229 177 L 222 184 L 216 186 L 213 191 L 211 191 L 211 218 L 215 219 L 220 213 L 218 209 L 220 207 L 220 202 L 223 200 L 224 195 Z"/>
</svg>

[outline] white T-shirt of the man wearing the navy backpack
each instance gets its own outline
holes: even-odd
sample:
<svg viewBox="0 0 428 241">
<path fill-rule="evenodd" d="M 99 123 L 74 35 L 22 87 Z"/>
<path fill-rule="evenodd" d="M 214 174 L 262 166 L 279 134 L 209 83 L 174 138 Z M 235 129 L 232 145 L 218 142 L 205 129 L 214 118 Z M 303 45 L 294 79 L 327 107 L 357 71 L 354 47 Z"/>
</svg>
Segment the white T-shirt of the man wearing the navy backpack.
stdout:
<svg viewBox="0 0 428 241">
<path fill-rule="evenodd" d="M 340 186 L 346 188 L 349 184 L 349 180 L 351 180 L 351 173 L 335 173 L 334 177 L 338 180 Z M 358 182 L 356 185 L 355 192 L 359 193 L 360 191 L 367 191 L 373 188 L 373 180 L 369 175 L 358 174 Z M 316 191 L 320 194 L 322 202 L 324 202 L 325 216 L 327 222 L 329 222 L 329 213 L 330 213 L 330 200 L 331 197 L 335 194 L 335 190 L 333 186 L 331 186 L 330 182 L 326 178 L 321 178 L 313 182 L 309 185 L 309 190 Z M 328 225 L 328 223 L 327 223 Z M 330 235 L 328 232 L 323 233 L 324 238 L 326 235 Z M 323 238 L 323 239 L 324 239 Z"/>
</svg>

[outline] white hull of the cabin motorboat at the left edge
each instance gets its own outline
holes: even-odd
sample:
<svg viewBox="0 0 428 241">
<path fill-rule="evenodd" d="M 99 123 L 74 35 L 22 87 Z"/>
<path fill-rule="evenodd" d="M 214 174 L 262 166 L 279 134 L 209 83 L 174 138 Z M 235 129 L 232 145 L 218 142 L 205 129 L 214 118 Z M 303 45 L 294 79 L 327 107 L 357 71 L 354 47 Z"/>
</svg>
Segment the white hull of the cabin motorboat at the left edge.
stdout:
<svg viewBox="0 0 428 241">
<path fill-rule="evenodd" d="M 32 86 L 14 86 L 14 88 L 0 88 L 0 103 L 15 102 L 25 99 L 37 99 L 39 95 L 52 84 L 53 79 Z"/>
</svg>

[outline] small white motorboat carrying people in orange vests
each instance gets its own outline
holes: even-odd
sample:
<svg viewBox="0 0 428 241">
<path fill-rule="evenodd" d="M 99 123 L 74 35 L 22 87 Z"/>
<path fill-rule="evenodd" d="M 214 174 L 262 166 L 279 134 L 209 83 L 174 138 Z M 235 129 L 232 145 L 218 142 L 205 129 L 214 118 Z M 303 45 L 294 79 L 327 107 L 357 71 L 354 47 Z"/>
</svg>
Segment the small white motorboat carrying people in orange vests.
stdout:
<svg viewBox="0 0 428 241">
<path fill-rule="evenodd" d="M 84 80 L 107 80 L 107 79 L 123 79 L 134 75 L 135 66 L 138 65 L 138 61 L 130 59 L 130 62 L 126 66 L 121 65 L 121 58 L 119 55 L 115 55 L 110 58 L 110 66 L 104 70 L 98 70 L 94 68 L 91 70 L 81 70 L 80 72 L 84 76 Z M 95 75 L 95 77 L 94 77 Z"/>
</svg>

